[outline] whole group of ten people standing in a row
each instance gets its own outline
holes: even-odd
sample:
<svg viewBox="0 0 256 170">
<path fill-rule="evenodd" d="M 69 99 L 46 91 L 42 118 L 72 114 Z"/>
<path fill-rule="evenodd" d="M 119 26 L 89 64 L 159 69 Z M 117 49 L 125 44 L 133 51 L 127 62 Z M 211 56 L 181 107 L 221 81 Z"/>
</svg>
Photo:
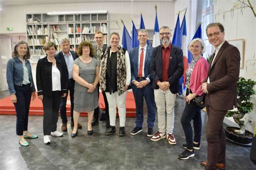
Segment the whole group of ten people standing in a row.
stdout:
<svg viewBox="0 0 256 170">
<path fill-rule="evenodd" d="M 194 157 L 194 150 L 200 149 L 201 111 L 193 101 L 205 94 L 207 109 L 207 161 L 201 161 L 206 169 L 225 168 L 225 133 L 223 119 L 227 110 L 237 105 L 236 82 L 239 77 L 240 54 L 236 47 L 225 41 L 224 27 L 211 23 L 206 27 L 209 42 L 215 51 L 210 65 L 202 56 L 204 41 L 193 39 L 188 46 L 193 55 L 190 67 L 186 70 L 186 105 L 181 116 L 186 143 L 179 159 Z M 105 102 L 106 134 L 116 133 L 116 114 L 119 114 L 119 136 L 125 135 L 127 89 L 132 88 L 136 104 L 135 128 L 131 135 L 143 131 L 143 103 L 147 105 L 147 137 L 152 141 L 167 139 L 176 145 L 174 137 L 174 104 L 178 93 L 179 79 L 183 75 L 183 51 L 171 44 L 171 30 L 160 28 L 161 45 L 147 45 L 148 32 L 138 31 L 139 47 L 129 52 L 119 45 L 116 32 L 110 35 L 110 46 L 103 44 L 103 33 L 96 32 L 97 45 L 83 41 L 77 52 L 70 51 L 69 40 L 60 41 L 62 49 L 57 55 L 53 42 L 45 44 L 45 58 L 39 59 L 36 68 L 38 98 L 43 102 L 44 143 L 49 144 L 50 136 L 63 136 L 57 131 L 58 112 L 62 118 L 62 131 L 67 131 L 66 101 L 70 93 L 71 137 L 78 135 L 82 126 L 78 123 L 80 112 L 87 112 L 87 133 L 93 134 L 92 126 L 99 119 L 99 89 Z M 16 108 L 16 132 L 19 144 L 28 146 L 26 138 L 37 138 L 28 132 L 29 105 L 35 100 L 30 53 L 28 44 L 18 42 L 7 65 L 7 81 L 11 101 Z M 153 132 L 157 107 L 158 131 Z M 24 107 L 25 106 L 25 107 Z M 166 112 L 166 114 L 165 114 Z M 166 116 L 165 116 L 166 115 Z M 193 120 L 194 137 L 191 127 Z"/>
</svg>

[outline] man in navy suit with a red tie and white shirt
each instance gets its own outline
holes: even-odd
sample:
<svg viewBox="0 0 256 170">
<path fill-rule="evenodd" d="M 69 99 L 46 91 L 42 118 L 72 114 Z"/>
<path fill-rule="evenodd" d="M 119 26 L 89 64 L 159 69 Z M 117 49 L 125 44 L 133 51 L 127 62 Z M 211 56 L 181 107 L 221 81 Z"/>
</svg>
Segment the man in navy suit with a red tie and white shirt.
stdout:
<svg viewBox="0 0 256 170">
<path fill-rule="evenodd" d="M 147 104 L 147 137 L 153 136 L 155 119 L 154 91 L 151 88 L 150 60 L 153 47 L 147 45 L 147 30 L 138 31 L 139 47 L 129 51 L 131 63 L 132 92 L 136 104 L 136 127 L 131 131 L 132 135 L 142 132 L 143 124 L 143 97 Z"/>
</svg>

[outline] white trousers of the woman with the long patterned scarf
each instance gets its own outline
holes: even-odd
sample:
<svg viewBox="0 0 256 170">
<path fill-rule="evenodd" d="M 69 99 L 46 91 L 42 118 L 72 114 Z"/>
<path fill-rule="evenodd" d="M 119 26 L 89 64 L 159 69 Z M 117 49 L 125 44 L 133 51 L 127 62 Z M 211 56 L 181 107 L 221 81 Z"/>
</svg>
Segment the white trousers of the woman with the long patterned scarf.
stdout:
<svg viewBox="0 0 256 170">
<path fill-rule="evenodd" d="M 119 123 L 120 127 L 125 126 L 125 117 L 126 117 L 126 108 L 125 108 L 125 100 L 126 100 L 127 91 L 125 91 L 122 95 L 118 95 L 118 91 L 110 94 L 106 92 L 107 102 L 109 102 L 109 120 L 111 126 L 116 126 L 116 116 L 117 116 L 117 108 L 119 115 Z"/>
</svg>

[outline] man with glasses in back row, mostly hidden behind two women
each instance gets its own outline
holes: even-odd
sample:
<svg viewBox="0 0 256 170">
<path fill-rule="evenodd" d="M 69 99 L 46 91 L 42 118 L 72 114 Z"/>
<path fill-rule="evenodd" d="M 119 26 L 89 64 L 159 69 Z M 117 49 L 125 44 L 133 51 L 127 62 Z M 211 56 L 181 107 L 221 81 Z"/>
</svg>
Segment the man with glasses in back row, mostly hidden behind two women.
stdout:
<svg viewBox="0 0 256 170">
<path fill-rule="evenodd" d="M 98 59 L 99 61 L 99 65 L 100 65 L 100 60 L 102 60 L 102 56 L 105 53 L 105 50 L 107 48 L 107 45 L 105 45 L 103 43 L 103 32 L 96 32 L 95 33 L 95 41 L 97 42 L 97 45 L 93 46 L 94 50 L 95 50 L 95 57 L 96 59 Z M 99 84 L 98 84 L 98 90 L 99 90 Z M 106 98 L 106 94 L 105 92 L 102 93 L 103 94 L 103 98 L 104 98 L 104 103 L 105 103 L 105 119 L 106 119 L 106 127 L 109 128 L 110 126 L 110 122 L 109 122 L 109 103 L 107 102 L 107 98 Z M 93 120 L 92 120 L 92 126 L 97 125 L 99 123 L 99 107 L 96 108 L 94 110 L 94 114 L 93 114 Z"/>
</svg>

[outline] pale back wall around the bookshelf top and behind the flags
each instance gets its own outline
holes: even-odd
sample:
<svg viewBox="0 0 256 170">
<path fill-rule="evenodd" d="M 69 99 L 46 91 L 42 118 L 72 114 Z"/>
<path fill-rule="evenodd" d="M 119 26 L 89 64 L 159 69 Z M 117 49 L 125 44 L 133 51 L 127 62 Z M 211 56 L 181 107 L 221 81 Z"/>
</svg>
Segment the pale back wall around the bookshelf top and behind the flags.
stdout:
<svg viewBox="0 0 256 170">
<path fill-rule="evenodd" d="M 14 27 L 12 33 L 26 32 L 26 13 L 47 13 L 50 11 L 109 11 L 110 31 L 117 31 L 122 37 L 124 20 L 127 30 L 131 30 L 131 17 L 137 29 L 142 12 L 146 29 L 153 29 L 156 16 L 154 5 L 157 4 L 159 27 L 167 25 L 174 28 L 174 2 L 107 2 L 107 3 L 69 3 L 69 4 L 41 4 L 41 5 L 9 5 L 0 11 L 0 34 L 10 33 L 6 27 Z M 118 23 L 116 23 L 116 21 Z"/>
</svg>

